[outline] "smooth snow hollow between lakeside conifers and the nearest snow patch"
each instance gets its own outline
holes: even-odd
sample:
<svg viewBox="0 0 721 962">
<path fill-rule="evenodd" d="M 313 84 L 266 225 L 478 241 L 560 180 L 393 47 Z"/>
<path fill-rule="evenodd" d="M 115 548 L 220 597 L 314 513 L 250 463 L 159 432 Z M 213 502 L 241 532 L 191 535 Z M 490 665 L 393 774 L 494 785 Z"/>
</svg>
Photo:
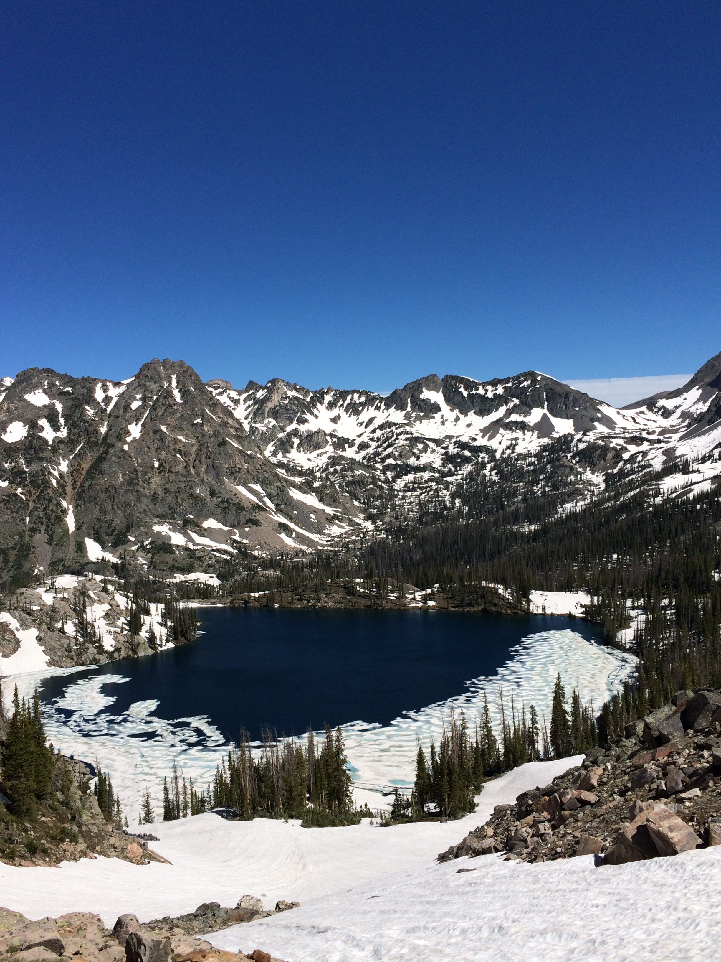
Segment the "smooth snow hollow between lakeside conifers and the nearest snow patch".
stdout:
<svg viewBox="0 0 721 962">
<path fill-rule="evenodd" d="M 261 897 L 266 908 L 277 899 L 325 901 L 354 886 L 381 884 L 391 873 L 428 869 L 439 851 L 484 823 L 494 805 L 545 785 L 581 757 L 534 762 L 489 782 L 477 811 L 458 822 L 301 828 L 298 822 L 225 822 L 208 814 L 150 826 L 161 840 L 152 847 L 172 865 L 138 867 L 109 858 L 54 869 L 0 863 L 0 904 L 33 919 L 96 912 L 112 925 L 123 912 L 147 921 L 192 911 L 204 901 L 235 905 L 246 892 Z"/>
</svg>

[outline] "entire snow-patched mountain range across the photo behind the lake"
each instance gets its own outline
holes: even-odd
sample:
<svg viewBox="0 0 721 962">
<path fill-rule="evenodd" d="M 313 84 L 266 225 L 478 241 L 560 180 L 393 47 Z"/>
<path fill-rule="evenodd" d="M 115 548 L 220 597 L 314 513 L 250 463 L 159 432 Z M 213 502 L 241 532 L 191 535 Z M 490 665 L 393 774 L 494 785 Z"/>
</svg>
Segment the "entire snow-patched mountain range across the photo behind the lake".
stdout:
<svg viewBox="0 0 721 962">
<path fill-rule="evenodd" d="M 430 510 L 472 516 L 469 488 L 551 493 L 559 512 L 619 477 L 685 497 L 718 484 L 720 446 L 721 354 L 622 410 L 537 371 L 381 395 L 236 390 L 182 361 L 121 382 L 31 367 L 0 382 L 0 581 L 333 550 Z"/>
</svg>

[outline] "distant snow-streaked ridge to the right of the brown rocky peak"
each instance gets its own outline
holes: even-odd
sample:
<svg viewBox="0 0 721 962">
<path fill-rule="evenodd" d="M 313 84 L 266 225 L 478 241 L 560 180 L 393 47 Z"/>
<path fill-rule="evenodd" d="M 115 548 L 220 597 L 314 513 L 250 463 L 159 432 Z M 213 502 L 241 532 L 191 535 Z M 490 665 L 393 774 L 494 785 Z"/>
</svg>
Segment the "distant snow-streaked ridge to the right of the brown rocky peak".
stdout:
<svg viewBox="0 0 721 962">
<path fill-rule="evenodd" d="M 208 388 L 270 461 L 372 509 L 384 496 L 450 501 L 467 475 L 493 479 L 509 462 L 530 478 L 559 441 L 572 466 L 572 500 L 601 487 L 609 470 L 696 460 L 721 443 L 720 371 L 718 355 L 679 391 L 624 410 L 537 371 L 485 383 L 432 374 L 387 396 L 311 392 L 279 379 L 243 391 L 224 381 Z"/>
</svg>

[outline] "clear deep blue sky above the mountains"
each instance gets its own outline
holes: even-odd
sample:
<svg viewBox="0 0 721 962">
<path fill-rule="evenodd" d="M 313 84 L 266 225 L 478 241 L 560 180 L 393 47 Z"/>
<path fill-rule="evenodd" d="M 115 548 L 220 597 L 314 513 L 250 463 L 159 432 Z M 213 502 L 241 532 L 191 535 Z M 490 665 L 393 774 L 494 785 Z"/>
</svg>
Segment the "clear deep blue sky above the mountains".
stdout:
<svg viewBox="0 0 721 962">
<path fill-rule="evenodd" d="M 0 374 L 721 350 L 721 5 L 5 0 Z"/>
</svg>

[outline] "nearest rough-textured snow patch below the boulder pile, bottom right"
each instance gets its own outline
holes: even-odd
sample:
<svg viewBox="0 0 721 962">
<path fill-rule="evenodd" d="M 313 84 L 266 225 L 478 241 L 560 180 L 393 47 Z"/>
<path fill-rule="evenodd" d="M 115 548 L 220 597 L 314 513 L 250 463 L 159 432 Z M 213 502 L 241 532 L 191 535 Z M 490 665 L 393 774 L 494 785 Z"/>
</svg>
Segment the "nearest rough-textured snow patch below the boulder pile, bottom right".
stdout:
<svg viewBox="0 0 721 962">
<path fill-rule="evenodd" d="M 598 869 L 592 855 L 536 865 L 486 855 L 208 938 L 289 962 L 709 962 L 719 957 L 719 883 L 721 848 Z"/>
</svg>

